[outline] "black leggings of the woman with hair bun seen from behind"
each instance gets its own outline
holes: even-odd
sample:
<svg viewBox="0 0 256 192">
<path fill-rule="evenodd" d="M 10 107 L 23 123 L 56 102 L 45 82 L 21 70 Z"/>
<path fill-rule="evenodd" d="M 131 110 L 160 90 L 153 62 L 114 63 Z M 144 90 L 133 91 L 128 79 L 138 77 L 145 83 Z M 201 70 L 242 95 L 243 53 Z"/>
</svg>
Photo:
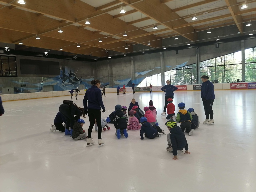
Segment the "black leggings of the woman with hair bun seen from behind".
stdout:
<svg viewBox="0 0 256 192">
<path fill-rule="evenodd" d="M 88 137 L 91 137 L 91 131 L 93 130 L 93 126 L 96 123 L 98 126 L 98 139 L 101 139 L 101 110 L 100 109 L 88 109 L 88 117 L 90 121 L 90 126 L 88 129 Z"/>
</svg>

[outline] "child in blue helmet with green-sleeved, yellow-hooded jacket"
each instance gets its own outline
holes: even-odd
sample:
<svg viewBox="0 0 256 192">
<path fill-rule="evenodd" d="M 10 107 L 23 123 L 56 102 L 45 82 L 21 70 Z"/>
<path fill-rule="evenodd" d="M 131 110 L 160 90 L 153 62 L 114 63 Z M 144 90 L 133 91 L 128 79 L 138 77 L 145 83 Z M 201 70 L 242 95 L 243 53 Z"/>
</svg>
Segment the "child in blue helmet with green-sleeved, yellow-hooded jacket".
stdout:
<svg viewBox="0 0 256 192">
<path fill-rule="evenodd" d="M 179 103 L 179 112 L 177 113 L 176 121 L 181 123 L 182 132 L 185 131 L 189 135 L 193 134 L 194 129 L 191 129 L 192 115 L 185 109 L 185 103 Z"/>
</svg>

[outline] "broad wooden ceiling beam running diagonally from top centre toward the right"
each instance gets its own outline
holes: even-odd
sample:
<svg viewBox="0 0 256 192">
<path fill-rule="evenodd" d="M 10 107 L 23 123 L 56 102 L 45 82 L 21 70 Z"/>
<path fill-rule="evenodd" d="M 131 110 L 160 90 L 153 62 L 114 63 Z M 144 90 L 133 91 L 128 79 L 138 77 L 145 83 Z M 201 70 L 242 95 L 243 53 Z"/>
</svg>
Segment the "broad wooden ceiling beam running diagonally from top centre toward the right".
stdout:
<svg viewBox="0 0 256 192">
<path fill-rule="evenodd" d="M 119 1 L 126 3 L 125 0 Z M 175 25 L 180 25 L 181 23 L 187 24 L 187 22 L 181 19 L 178 14 L 172 13 L 172 10 L 164 3 L 161 3 L 159 0 L 145 0 L 129 6 L 133 7 L 134 9 L 140 11 L 141 13 L 147 15 L 151 19 L 154 19 L 158 23 L 161 23 L 162 25 L 166 26 L 168 29 L 171 30 L 173 30 L 173 26 Z M 194 40 L 193 27 L 191 26 L 186 27 L 186 29 L 177 29 L 174 31 L 189 39 L 190 41 Z"/>
</svg>

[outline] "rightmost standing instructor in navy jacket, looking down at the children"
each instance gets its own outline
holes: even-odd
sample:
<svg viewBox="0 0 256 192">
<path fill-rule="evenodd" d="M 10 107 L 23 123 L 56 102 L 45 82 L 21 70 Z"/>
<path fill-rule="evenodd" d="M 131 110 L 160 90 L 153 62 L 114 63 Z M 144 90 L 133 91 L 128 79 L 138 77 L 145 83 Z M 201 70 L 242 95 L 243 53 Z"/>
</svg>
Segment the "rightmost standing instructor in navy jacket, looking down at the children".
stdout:
<svg viewBox="0 0 256 192">
<path fill-rule="evenodd" d="M 203 82 L 202 83 L 202 88 L 201 88 L 201 97 L 202 97 L 202 100 L 203 100 L 203 108 L 205 109 L 205 117 L 206 117 L 206 119 L 203 123 L 207 123 L 207 122 L 212 123 L 213 122 L 212 106 L 213 106 L 213 101 L 215 99 L 213 83 L 208 80 L 209 77 L 206 76 L 206 75 L 203 75 L 201 77 L 201 79 L 202 79 L 202 82 Z M 210 120 L 209 120 L 209 114 L 210 114 Z"/>
</svg>

